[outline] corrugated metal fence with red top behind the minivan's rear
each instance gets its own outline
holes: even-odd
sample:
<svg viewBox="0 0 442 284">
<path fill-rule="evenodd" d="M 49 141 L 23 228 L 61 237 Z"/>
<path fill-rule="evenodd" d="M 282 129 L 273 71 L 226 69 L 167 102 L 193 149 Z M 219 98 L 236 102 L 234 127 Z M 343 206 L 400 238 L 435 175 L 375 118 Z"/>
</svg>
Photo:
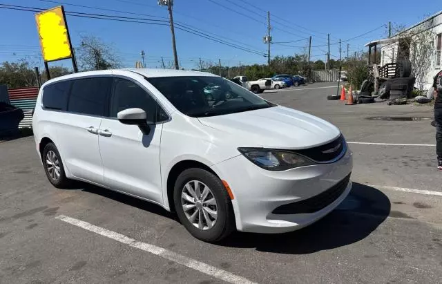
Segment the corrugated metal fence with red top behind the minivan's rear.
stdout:
<svg viewBox="0 0 442 284">
<path fill-rule="evenodd" d="M 21 120 L 19 128 L 32 127 L 32 110 L 37 102 L 39 88 L 10 88 L 8 90 L 10 104 L 17 108 L 21 108 L 25 117 Z"/>
</svg>

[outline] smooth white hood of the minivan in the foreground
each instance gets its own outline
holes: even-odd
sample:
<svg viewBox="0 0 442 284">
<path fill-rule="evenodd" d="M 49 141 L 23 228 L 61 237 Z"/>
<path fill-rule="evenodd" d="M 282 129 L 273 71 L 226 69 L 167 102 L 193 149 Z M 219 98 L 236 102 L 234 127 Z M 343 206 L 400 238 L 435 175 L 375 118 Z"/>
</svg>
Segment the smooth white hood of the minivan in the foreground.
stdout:
<svg viewBox="0 0 442 284">
<path fill-rule="evenodd" d="M 222 131 L 224 139 L 235 140 L 244 147 L 307 149 L 327 144 L 340 135 L 339 129 L 329 122 L 283 106 L 198 120 Z"/>
</svg>

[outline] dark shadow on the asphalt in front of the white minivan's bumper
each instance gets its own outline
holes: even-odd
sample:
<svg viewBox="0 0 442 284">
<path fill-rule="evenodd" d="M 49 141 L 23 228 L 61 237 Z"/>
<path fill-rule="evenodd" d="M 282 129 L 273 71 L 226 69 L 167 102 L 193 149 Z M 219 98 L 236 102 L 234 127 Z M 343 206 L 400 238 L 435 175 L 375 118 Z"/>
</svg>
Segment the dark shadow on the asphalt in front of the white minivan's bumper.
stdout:
<svg viewBox="0 0 442 284">
<path fill-rule="evenodd" d="M 278 254 L 312 254 L 363 240 L 383 223 L 390 207 L 384 193 L 354 182 L 341 205 L 309 227 L 286 234 L 237 232 L 219 245 Z"/>
</svg>

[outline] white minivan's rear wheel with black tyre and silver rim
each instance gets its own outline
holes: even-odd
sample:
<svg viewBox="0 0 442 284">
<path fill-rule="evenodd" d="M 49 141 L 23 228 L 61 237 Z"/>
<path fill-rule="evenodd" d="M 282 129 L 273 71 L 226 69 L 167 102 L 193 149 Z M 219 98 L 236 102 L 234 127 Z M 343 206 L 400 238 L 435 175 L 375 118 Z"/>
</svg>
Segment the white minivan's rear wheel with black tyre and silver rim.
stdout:
<svg viewBox="0 0 442 284">
<path fill-rule="evenodd" d="M 61 161 L 60 153 L 55 144 L 48 143 L 44 146 L 41 161 L 43 162 L 46 176 L 54 187 L 59 189 L 68 187 L 70 180 L 66 178 L 63 162 Z"/>
</svg>

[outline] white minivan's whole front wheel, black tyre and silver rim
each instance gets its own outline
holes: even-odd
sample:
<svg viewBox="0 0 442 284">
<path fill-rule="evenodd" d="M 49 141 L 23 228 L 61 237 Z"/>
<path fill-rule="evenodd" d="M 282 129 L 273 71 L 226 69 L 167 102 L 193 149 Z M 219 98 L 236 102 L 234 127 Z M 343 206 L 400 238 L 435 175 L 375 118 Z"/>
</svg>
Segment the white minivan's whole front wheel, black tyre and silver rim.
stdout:
<svg viewBox="0 0 442 284">
<path fill-rule="evenodd" d="M 177 216 L 195 238 L 213 243 L 235 229 L 229 194 L 221 180 L 204 169 L 186 169 L 175 182 Z"/>
</svg>

